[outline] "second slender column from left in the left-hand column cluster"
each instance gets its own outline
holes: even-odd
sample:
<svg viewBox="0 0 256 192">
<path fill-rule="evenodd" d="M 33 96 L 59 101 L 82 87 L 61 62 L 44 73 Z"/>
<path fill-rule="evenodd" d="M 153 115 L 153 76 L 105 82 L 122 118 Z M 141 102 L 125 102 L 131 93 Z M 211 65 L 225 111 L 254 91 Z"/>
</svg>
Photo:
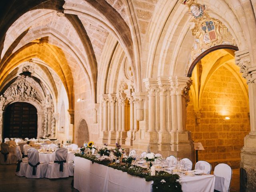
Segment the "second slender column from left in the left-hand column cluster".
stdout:
<svg viewBox="0 0 256 192">
<path fill-rule="evenodd" d="M 116 117 L 116 94 L 108 95 L 108 102 L 110 105 L 110 131 L 108 133 L 108 143 L 116 143 L 116 128 L 115 128 L 115 117 Z"/>
</svg>

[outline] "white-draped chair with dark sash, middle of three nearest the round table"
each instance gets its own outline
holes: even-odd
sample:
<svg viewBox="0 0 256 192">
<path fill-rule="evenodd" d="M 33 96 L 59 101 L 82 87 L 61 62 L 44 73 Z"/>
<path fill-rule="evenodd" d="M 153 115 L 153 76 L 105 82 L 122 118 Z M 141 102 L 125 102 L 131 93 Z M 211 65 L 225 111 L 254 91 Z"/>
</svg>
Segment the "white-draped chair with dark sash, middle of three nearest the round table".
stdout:
<svg viewBox="0 0 256 192">
<path fill-rule="evenodd" d="M 35 148 L 28 149 L 28 167 L 26 178 L 44 178 L 47 171 L 47 163 L 39 162 L 38 150 Z"/>
</svg>

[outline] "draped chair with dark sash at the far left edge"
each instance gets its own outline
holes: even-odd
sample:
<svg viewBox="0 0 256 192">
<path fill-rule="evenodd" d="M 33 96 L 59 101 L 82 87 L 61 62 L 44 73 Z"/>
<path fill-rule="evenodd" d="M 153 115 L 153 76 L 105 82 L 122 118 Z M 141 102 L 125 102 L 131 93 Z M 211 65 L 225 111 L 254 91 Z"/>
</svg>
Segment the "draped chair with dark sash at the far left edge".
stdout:
<svg viewBox="0 0 256 192">
<path fill-rule="evenodd" d="M 16 164 L 17 158 L 14 152 L 9 152 L 9 146 L 6 143 L 1 143 L 0 164 Z"/>
</svg>

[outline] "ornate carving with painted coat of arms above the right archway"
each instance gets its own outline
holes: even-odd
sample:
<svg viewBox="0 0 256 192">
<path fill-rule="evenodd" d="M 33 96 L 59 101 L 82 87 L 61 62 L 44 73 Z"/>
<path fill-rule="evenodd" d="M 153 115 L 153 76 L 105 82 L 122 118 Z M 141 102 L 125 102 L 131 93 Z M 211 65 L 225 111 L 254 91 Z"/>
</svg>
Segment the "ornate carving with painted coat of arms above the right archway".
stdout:
<svg viewBox="0 0 256 192">
<path fill-rule="evenodd" d="M 205 50 L 217 45 L 233 45 L 236 42 L 229 32 L 228 28 L 215 18 L 212 18 L 204 5 L 196 3 L 195 0 L 184 1 L 180 3 L 188 6 L 188 12 L 194 17 L 190 20 L 193 23 L 191 31 L 195 37 L 195 43 L 192 47 L 188 66 Z"/>
</svg>

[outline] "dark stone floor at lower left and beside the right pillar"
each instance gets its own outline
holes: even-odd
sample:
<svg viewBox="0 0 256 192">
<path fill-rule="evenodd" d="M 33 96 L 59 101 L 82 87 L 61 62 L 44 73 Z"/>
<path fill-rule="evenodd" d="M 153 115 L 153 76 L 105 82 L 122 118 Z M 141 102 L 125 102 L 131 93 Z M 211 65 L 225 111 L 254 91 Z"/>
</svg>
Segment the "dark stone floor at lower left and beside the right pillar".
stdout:
<svg viewBox="0 0 256 192">
<path fill-rule="evenodd" d="M 0 165 L 1 192 L 78 192 L 71 186 L 73 177 L 30 179 L 15 175 L 16 165 Z M 230 192 L 239 192 L 239 169 L 233 170 Z"/>
</svg>

